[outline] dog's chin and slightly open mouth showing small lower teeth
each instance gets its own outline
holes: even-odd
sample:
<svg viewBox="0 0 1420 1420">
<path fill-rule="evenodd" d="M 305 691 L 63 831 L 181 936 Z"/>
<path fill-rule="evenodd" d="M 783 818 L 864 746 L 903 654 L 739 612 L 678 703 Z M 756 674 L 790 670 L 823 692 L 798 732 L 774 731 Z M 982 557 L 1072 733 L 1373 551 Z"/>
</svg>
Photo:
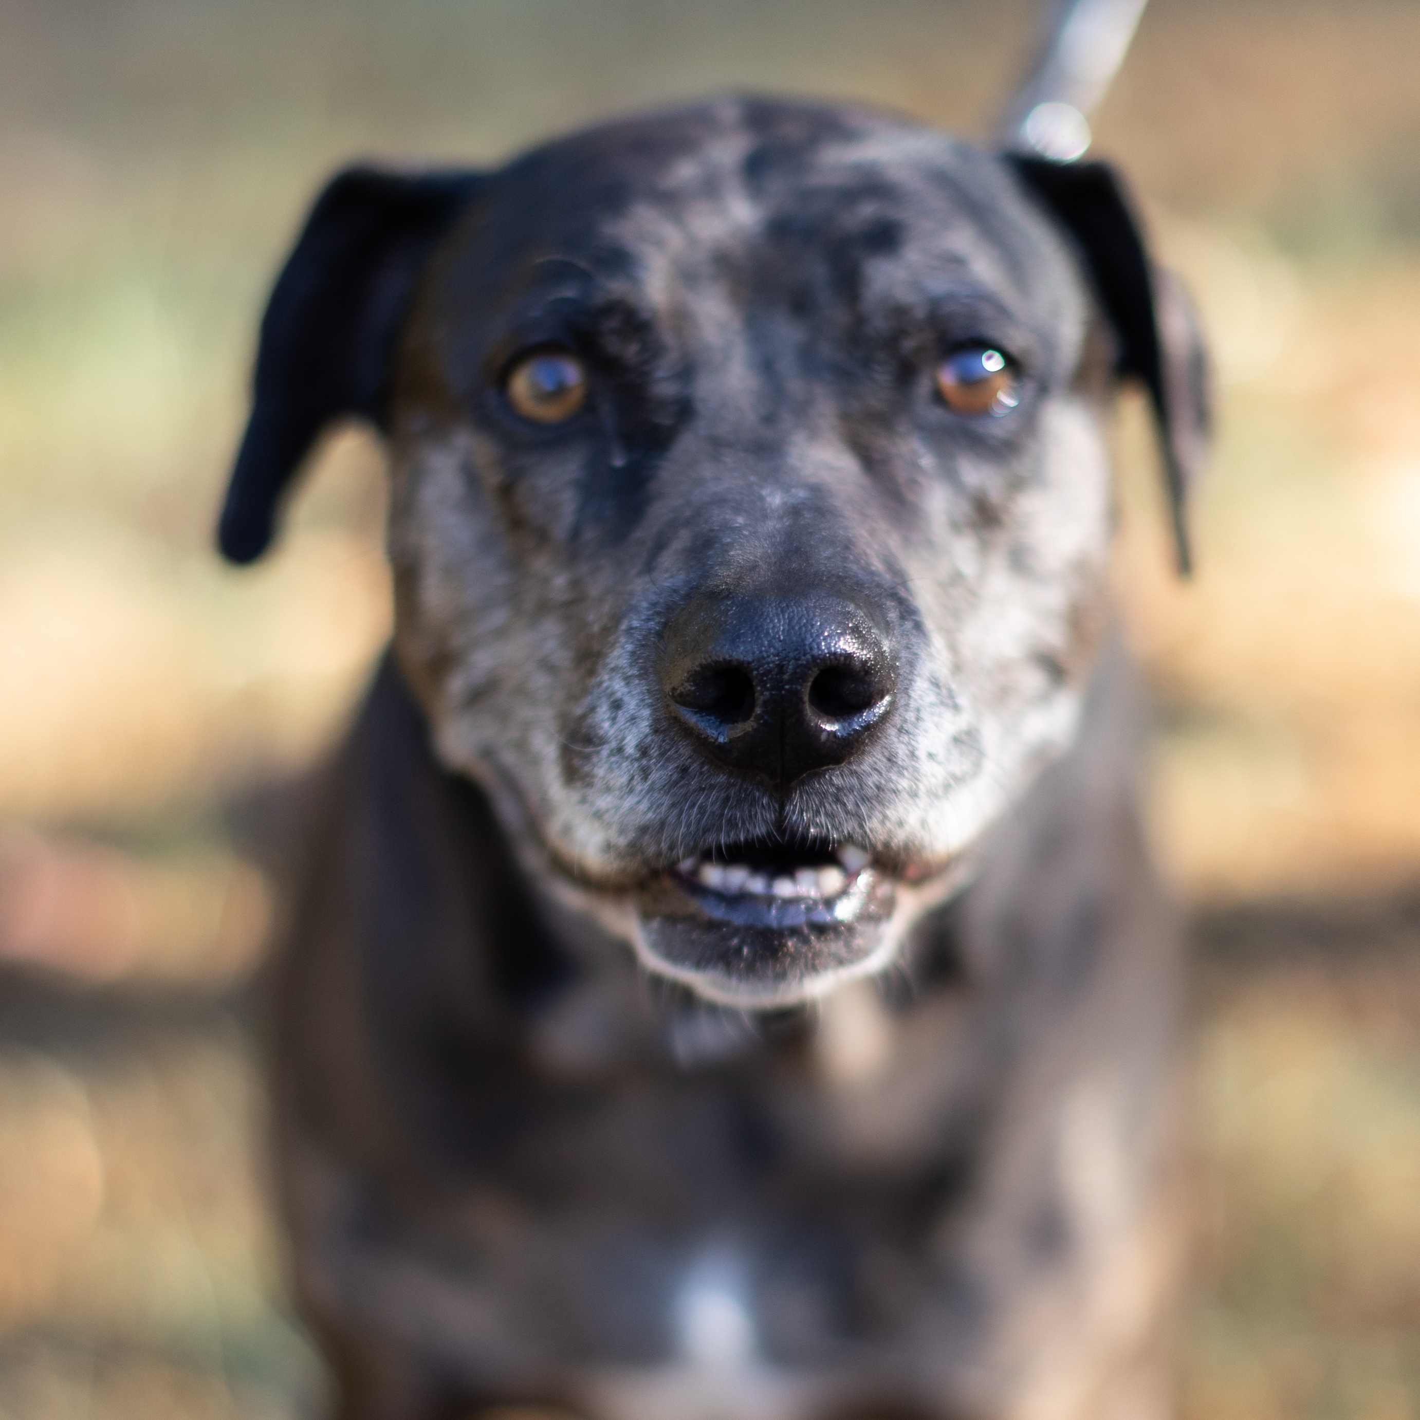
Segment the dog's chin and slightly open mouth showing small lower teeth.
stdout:
<svg viewBox="0 0 1420 1420">
<path fill-rule="evenodd" d="M 896 896 L 856 845 L 716 849 L 640 889 L 638 949 L 652 971 L 709 1001 L 794 1005 L 886 964 Z"/>
</svg>

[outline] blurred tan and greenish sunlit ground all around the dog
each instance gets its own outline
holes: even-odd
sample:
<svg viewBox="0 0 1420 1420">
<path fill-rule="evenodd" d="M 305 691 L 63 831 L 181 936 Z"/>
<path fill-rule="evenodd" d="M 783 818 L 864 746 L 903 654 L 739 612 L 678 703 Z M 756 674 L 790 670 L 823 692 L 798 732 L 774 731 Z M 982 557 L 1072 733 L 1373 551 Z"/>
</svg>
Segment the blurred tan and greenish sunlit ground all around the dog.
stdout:
<svg viewBox="0 0 1420 1420">
<path fill-rule="evenodd" d="M 273 906 L 224 805 L 320 754 L 386 632 L 375 450 L 334 442 L 267 565 L 209 552 L 314 186 L 726 87 L 980 132 L 1034 14 L 0 0 L 3 1420 L 318 1394 L 253 1146 Z M 1187 1420 L 1420 1416 L 1417 53 L 1409 0 L 1153 0 L 1100 115 L 1224 381 L 1190 586 L 1119 420 L 1154 834 L 1198 922 Z"/>
</svg>

